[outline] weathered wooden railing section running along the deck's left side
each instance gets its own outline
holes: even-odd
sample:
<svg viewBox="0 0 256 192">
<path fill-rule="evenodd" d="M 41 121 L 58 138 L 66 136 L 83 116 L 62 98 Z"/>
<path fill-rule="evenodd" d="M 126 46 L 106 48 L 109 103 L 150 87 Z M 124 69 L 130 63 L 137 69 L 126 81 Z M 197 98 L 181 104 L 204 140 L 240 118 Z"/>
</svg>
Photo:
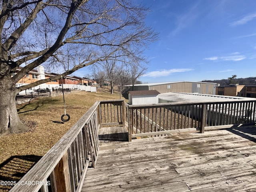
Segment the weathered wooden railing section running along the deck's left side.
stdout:
<svg viewBox="0 0 256 192">
<path fill-rule="evenodd" d="M 98 157 L 99 104 L 96 102 L 10 192 L 80 191 L 88 166 L 94 167 Z"/>
</svg>

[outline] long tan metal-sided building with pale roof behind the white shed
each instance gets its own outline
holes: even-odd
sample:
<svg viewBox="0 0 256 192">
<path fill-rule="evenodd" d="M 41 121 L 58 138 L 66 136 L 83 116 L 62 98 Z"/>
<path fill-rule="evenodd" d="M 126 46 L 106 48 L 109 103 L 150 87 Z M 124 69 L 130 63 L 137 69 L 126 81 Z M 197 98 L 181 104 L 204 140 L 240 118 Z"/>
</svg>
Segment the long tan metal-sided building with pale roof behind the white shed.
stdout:
<svg viewBox="0 0 256 192">
<path fill-rule="evenodd" d="M 157 90 L 160 94 L 169 92 L 215 94 L 217 85 L 217 83 L 182 81 L 135 84 L 133 90 L 132 85 L 128 87 L 130 91 Z"/>
</svg>

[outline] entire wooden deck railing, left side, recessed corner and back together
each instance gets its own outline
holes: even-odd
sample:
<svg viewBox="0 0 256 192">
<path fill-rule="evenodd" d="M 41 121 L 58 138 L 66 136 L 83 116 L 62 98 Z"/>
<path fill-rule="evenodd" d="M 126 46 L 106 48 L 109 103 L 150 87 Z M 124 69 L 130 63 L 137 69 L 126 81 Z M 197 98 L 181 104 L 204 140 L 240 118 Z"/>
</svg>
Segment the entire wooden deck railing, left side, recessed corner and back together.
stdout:
<svg viewBox="0 0 256 192">
<path fill-rule="evenodd" d="M 88 166 L 96 164 L 101 126 L 126 126 L 132 141 L 135 137 L 255 124 L 255 109 L 255 100 L 151 105 L 98 101 L 10 192 L 79 192 Z"/>
</svg>

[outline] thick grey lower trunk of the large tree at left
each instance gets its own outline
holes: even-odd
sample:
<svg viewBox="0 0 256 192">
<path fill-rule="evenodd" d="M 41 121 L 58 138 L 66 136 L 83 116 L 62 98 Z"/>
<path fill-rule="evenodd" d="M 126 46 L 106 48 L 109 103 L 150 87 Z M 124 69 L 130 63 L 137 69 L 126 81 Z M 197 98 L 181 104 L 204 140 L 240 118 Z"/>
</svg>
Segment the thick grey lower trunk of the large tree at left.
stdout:
<svg viewBox="0 0 256 192">
<path fill-rule="evenodd" d="M 10 82 L 4 85 L 4 81 L 6 79 L 0 82 L 0 136 L 28 130 L 18 116 L 15 85 L 10 85 Z"/>
</svg>

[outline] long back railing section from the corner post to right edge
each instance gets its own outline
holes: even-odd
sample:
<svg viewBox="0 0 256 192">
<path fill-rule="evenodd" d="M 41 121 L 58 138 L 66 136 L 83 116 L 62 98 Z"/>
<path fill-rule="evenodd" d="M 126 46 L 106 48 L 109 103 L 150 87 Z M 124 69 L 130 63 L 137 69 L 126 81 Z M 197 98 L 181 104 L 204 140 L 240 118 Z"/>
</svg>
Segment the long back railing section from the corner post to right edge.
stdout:
<svg viewBox="0 0 256 192">
<path fill-rule="evenodd" d="M 255 108 L 255 100 L 126 105 L 129 141 L 173 132 L 203 133 L 206 129 L 255 124 Z"/>
</svg>

